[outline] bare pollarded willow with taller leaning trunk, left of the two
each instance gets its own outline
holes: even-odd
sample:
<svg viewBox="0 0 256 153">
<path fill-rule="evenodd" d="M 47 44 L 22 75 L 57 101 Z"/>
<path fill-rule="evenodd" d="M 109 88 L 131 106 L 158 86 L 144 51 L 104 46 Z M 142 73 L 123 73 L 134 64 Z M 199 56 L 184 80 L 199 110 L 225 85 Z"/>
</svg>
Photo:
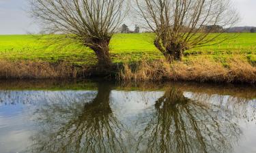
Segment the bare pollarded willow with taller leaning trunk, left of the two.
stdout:
<svg viewBox="0 0 256 153">
<path fill-rule="evenodd" d="M 31 13 L 46 32 L 91 48 L 99 65 L 111 65 L 109 42 L 126 8 L 125 0 L 31 0 Z"/>
</svg>

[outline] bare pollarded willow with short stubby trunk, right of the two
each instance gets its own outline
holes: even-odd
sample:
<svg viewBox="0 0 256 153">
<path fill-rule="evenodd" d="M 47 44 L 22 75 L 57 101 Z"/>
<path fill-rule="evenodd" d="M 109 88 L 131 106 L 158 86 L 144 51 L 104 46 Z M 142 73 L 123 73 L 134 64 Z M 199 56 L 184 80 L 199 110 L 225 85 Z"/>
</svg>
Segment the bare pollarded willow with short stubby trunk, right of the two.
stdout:
<svg viewBox="0 0 256 153">
<path fill-rule="evenodd" d="M 229 0 L 135 1 L 147 28 L 156 33 L 154 46 L 169 62 L 181 60 L 185 50 L 227 39 L 219 36 L 239 19 Z"/>
</svg>

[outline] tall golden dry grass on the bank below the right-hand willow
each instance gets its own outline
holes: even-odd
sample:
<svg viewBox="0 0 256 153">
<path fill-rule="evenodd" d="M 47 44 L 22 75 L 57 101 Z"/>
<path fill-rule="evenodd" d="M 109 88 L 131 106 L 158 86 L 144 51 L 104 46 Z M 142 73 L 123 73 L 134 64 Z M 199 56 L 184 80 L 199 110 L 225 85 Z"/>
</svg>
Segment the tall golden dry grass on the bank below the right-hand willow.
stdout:
<svg viewBox="0 0 256 153">
<path fill-rule="evenodd" d="M 241 58 L 227 61 L 224 67 L 211 59 L 195 58 L 188 63 L 167 63 L 165 60 L 147 62 L 137 65 L 124 64 L 117 74 L 118 80 L 124 81 L 159 81 L 184 80 L 197 82 L 246 82 L 256 83 L 256 67 Z"/>
</svg>

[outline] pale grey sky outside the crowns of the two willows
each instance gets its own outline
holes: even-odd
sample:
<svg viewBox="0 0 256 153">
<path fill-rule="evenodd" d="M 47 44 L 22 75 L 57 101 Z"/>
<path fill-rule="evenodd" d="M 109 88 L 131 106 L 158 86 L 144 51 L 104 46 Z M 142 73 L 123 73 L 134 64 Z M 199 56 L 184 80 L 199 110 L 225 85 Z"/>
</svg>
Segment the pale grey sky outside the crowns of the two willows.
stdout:
<svg viewBox="0 0 256 153">
<path fill-rule="evenodd" d="M 28 0 L 0 0 L 0 35 L 38 33 L 40 29 L 29 16 Z M 256 27 L 256 0 L 231 0 L 240 12 L 237 26 Z"/>
</svg>

